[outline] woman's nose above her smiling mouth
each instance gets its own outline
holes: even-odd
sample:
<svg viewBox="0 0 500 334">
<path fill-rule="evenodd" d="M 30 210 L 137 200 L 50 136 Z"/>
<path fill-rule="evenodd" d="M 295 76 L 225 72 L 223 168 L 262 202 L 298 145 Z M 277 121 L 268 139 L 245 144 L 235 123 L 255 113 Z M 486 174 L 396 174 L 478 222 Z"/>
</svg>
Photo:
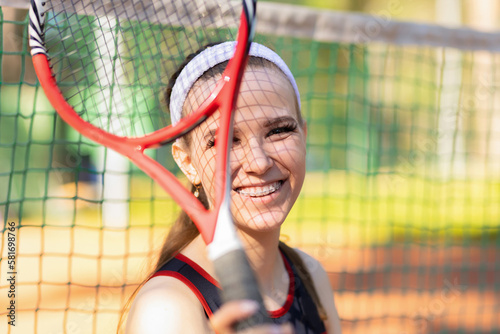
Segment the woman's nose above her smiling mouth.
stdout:
<svg viewBox="0 0 500 334">
<path fill-rule="evenodd" d="M 238 160 L 246 173 L 262 175 L 273 166 L 272 157 L 258 140 L 247 142 L 240 151 Z"/>
</svg>

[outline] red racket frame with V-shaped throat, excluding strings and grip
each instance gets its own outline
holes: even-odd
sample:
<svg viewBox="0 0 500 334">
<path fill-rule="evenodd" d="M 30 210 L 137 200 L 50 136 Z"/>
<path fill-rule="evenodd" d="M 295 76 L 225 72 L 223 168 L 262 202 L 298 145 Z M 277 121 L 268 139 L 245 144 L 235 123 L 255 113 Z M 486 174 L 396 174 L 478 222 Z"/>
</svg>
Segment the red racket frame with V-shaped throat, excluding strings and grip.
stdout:
<svg viewBox="0 0 500 334">
<path fill-rule="evenodd" d="M 33 64 L 48 100 L 59 116 L 73 129 L 84 137 L 128 157 L 155 180 L 190 216 L 207 245 L 211 244 L 219 212 L 229 210 L 230 201 L 226 198 L 230 192 L 231 183 L 230 175 L 227 173 L 231 145 L 229 138 L 232 138 L 233 109 L 248 60 L 248 51 L 255 34 L 256 0 L 242 1 L 243 9 L 240 16 L 237 47 L 234 56 L 229 60 L 223 72 L 223 79 L 217 84 L 210 97 L 196 111 L 182 118 L 178 124 L 169 125 L 135 138 L 118 136 L 86 122 L 64 98 L 51 70 L 49 55 L 44 43 L 45 13 L 50 1 L 31 0 L 29 12 L 29 44 Z M 177 138 L 189 133 L 217 110 L 221 114 L 217 141 L 221 144 L 216 145 L 214 208 L 207 210 L 171 172 L 147 156 L 144 150 L 172 143 Z M 226 208 L 222 208 L 222 206 L 226 206 Z"/>
</svg>

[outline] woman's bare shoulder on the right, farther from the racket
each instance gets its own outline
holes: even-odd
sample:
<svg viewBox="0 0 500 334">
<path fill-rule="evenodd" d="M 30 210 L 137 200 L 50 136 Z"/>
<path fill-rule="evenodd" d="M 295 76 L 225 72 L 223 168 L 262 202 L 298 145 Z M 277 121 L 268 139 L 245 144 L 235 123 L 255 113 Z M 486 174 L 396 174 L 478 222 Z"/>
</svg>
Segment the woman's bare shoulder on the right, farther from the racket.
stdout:
<svg viewBox="0 0 500 334">
<path fill-rule="evenodd" d="M 328 333 L 340 334 L 340 319 L 337 312 L 337 307 L 335 306 L 335 299 L 333 295 L 333 290 L 330 285 L 330 279 L 328 274 L 321 265 L 321 263 L 316 260 L 311 255 L 301 251 L 298 248 L 294 248 L 299 254 L 307 270 L 311 274 L 312 281 L 316 291 L 318 291 L 319 299 L 321 304 L 325 308 L 328 316 L 328 320 L 325 321 L 326 329 Z"/>
</svg>

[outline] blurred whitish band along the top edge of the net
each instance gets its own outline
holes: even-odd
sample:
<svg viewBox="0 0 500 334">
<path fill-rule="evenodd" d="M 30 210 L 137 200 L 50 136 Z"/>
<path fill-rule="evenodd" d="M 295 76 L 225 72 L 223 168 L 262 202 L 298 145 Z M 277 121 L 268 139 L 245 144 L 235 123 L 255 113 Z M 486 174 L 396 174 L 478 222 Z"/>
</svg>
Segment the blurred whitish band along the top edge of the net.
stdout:
<svg viewBox="0 0 500 334">
<path fill-rule="evenodd" d="M 0 0 L 0 6 L 28 9 L 29 0 Z M 239 3 L 235 4 L 235 7 L 239 6 Z M 483 32 L 470 28 L 448 28 L 433 24 L 401 22 L 375 15 L 270 2 L 260 3 L 257 15 L 258 34 L 278 34 L 330 43 L 379 42 L 500 52 L 500 31 Z M 158 20 L 161 22 L 161 18 Z M 373 27 L 375 29 L 372 29 Z"/>
</svg>

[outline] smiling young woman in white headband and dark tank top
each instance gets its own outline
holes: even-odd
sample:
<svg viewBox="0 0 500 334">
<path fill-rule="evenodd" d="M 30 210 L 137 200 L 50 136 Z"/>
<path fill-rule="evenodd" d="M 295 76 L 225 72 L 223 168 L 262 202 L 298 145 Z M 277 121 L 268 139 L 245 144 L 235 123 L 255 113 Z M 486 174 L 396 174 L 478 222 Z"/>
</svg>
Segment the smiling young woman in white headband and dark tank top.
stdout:
<svg viewBox="0 0 500 334">
<path fill-rule="evenodd" d="M 172 122 L 205 101 L 220 80 L 234 43 L 188 58 L 171 80 L 166 100 Z M 295 80 L 283 60 L 254 43 L 234 115 L 232 214 L 264 304 L 276 325 L 248 333 L 340 333 L 326 272 L 309 255 L 279 241 L 280 227 L 305 177 L 306 124 Z M 190 76 L 192 69 L 199 75 Z M 173 145 L 173 156 L 206 207 L 214 198 L 215 113 Z M 221 307 L 214 269 L 196 227 L 181 214 L 154 274 L 135 296 L 126 333 L 233 333 L 256 311 L 250 301 Z"/>
</svg>

